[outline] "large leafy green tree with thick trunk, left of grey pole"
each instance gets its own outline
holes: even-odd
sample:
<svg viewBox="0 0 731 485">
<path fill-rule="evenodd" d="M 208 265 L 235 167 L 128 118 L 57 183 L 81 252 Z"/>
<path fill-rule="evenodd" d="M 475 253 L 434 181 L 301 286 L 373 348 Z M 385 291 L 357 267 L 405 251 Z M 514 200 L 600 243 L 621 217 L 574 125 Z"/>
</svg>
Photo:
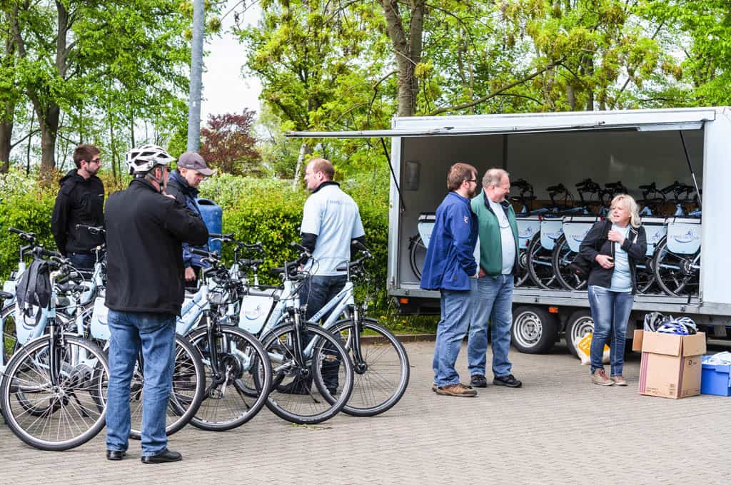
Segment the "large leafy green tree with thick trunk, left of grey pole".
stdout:
<svg viewBox="0 0 731 485">
<path fill-rule="evenodd" d="M 56 167 L 61 114 L 82 140 L 100 112 L 102 125 L 134 132 L 135 117 L 184 110 L 189 19 L 176 0 L 7 1 L 17 83 L 34 107 L 41 173 Z"/>
</svg>

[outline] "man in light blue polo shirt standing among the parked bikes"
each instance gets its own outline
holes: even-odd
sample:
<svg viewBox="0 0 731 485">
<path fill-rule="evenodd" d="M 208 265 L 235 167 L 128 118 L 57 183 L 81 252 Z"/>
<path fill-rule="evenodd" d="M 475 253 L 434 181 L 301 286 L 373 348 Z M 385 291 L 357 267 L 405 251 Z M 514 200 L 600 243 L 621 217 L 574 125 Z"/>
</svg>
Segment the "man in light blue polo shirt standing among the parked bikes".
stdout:
<svg viewBox="0 0 731 485">
<path fill-rule="evenodd" d="M 334 176 L 330 161 L 312 159 L 307 164 L 305 183 L 312 194 L 305 202 L 300 234 L 312 257 L 305 266 L 310 277 L 300 290 L 300 302 L 307 305 L 308 320 L 345 286 L 346 275 L 336 268 L 350 261 L 352 240 L 366 242 L 358 206 L 333 182 Z"/>
</svg>

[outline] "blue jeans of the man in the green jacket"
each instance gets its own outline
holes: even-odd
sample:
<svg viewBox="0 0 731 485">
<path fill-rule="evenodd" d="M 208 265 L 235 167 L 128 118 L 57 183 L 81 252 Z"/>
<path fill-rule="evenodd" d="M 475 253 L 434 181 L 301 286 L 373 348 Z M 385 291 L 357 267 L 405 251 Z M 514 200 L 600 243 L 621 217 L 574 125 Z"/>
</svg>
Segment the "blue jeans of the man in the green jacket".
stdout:
<svg viewBox="0 0 731 485">
<path fill-rule="evenodd" d="M 467 361 L 470 375 L 485 375 L 485 354 L 488 351 L 488 321 L 493 342 L 493 374 L 510 374 L 512 364 L 507 359 L 512 326 L 513 276 L 485 276 L 477 280 L 477 299 L 469 326 Z"/>
</svg>

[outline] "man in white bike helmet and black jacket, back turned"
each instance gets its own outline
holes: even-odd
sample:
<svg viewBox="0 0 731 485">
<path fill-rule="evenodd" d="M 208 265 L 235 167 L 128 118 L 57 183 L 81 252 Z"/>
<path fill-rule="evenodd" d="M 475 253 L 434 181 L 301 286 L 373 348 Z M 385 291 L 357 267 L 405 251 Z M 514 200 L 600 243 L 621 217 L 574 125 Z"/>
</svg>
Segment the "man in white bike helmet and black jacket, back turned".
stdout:
<svg viewBox="0 0 731 485">
<path fill-rule="evenodd" d="M 145 362 L 142 462 L 176 462 L 167 449 L 165 413 L 173 382 L 175 316 L 183 303 L 183 242 L 208 240 L 202 218 L 164 192 L 173 157 L 156 145 L 135 148 L 135 179 L 107 201 L 109 389 L 107 459 L 124 458 L 130 428 L 129 385 L 137 355 Z"/>
</svg>

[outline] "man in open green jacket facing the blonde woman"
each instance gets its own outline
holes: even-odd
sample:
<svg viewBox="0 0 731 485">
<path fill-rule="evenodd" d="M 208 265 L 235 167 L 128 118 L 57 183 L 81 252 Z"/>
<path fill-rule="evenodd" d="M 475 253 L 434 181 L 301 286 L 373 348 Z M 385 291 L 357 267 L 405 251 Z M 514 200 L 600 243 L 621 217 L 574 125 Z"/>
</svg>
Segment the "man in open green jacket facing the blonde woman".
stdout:
<svg viewBox="0 0 731 485">
<path fill-rule="evenodd" d="M 512 325 L 512 289 L 518 272 L 518 223 L 505 197 L 510 194 L 510 175 L 503 169 L 489 169 L 482 177 L 482 192 L 471 200 L 477 215 L 480 241 L 480 272 L 477 302 L 469 328 L 467 361 L 470 383 L 487 387 L 485 354 L 488 351 L 488 321 L 492 324 L 493 384 L 520 387 L 507 359 Z"/>
</svg>

